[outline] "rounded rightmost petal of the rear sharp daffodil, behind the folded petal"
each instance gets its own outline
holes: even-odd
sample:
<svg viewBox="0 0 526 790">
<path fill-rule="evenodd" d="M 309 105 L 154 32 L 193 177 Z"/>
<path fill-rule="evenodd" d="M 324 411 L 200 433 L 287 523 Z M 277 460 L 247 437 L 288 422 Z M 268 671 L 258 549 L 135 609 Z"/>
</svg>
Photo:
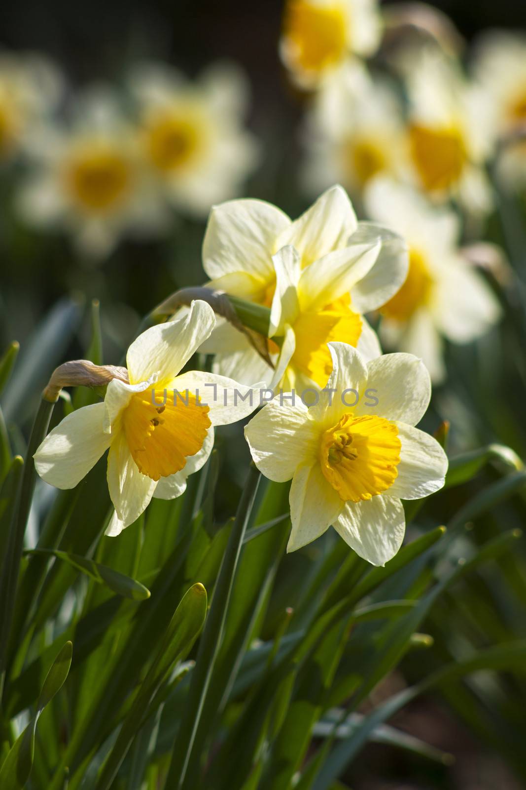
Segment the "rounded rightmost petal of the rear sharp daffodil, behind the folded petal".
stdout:
<svg viewBox="0 0 526 790">
<path fill-rule="evenodd" d="M 351 303 L 357 313 L 377 310 L 399 290 L 408 273 L 408 246 L 400 235 L 372 222 L 360 222 L 349 239 L 365 243 L 381 239 L 382 247 L 374 265 L 351 289 Z"/>
</svg>

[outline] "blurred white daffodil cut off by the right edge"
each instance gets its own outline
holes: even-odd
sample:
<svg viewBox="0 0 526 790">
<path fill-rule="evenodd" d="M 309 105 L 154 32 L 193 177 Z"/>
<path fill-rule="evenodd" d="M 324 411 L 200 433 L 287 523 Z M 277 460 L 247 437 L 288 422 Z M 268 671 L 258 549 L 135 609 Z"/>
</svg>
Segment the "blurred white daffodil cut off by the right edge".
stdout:
<svg viewBox="0 0 526 790">
<path fill-rule="evenodd" d="M 487 92 L 501 138 L 517 133 L 499 157 L 498 171 L 505 184 L 526 184 L 526 36 L 492 31 L 479 41 L 474 73 Z M 519 132 L 521 136 L 519 137 Z"/>
</svg>

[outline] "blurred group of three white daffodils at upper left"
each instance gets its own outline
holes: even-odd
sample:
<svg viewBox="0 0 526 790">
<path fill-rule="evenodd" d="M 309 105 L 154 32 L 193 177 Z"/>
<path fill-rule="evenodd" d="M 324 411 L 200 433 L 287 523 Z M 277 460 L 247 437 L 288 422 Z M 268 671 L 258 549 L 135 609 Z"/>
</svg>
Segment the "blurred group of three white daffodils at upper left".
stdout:
<svg viewBox="0 0 526 790">
<path fill-rule="evenodd" d="M 65 96 L 43 58 L 0 58 L 0 160 L 24 166 L 17 213 L 35 228 L 65 228 L 91 258 L 107 256 L 121 235 L 165 235 L 173 208 L 206 217 L 239 194 L 259 160 L 243 126 L 247 82 L 230 63 L 195 82 L 144 63 L 124 90 L 93 85 Z"/>
</svg>

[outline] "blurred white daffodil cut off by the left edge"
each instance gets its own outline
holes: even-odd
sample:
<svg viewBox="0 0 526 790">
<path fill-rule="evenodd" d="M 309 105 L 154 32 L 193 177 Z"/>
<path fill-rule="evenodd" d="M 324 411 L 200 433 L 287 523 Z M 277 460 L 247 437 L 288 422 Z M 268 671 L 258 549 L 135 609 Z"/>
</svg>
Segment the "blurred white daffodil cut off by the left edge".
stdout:
<svg viewBox="0 0 526 790">
<path fill-rule="evenodd" d="M 0 163 L 20 152 L 61 95 L 62 78 L 46 58 L 0 52 Z"/>
</svg>

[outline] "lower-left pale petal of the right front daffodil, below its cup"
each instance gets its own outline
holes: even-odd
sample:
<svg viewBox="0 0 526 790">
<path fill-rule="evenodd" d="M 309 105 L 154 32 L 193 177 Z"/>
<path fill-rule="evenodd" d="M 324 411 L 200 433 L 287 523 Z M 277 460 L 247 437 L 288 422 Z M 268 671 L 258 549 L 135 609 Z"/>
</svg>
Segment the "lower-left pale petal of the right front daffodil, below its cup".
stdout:
<svg viewBox="0 0 526 790">
<path fill-rule="evenodd" d="M 296 551 L 315 540 L 333 524 L 345 502 L 323 477 L 319 463 L 300 466 L 289 494 L 290 532 L 287 551 Z"/>
</svg>

